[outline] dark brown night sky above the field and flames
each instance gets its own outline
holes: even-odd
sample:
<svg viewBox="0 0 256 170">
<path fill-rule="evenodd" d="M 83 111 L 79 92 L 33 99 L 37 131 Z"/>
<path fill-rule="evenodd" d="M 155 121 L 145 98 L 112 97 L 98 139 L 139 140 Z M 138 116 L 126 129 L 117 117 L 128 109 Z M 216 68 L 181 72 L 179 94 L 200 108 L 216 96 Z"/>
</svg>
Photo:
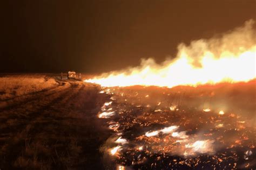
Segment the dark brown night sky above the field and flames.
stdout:
<svg viewBox="0 0 256 170">
<path fill-rule="evenodd" d="M 256 1 L 5 0 L 0 72 L 100 73 L 256 19 Z"/>
</svg>

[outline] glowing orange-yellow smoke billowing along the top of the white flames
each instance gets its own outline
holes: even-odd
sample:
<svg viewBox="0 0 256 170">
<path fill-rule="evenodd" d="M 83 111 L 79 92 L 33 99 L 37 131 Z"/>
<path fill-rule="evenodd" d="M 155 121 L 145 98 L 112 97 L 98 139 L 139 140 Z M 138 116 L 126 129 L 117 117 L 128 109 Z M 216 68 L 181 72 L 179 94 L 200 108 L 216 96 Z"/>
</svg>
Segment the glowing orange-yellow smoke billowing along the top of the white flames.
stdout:
<svg viewBox="0 0 256 170">
<path fill-rule="evenodd" d="M 104 73 L 100 77 L 108 75 L 117 75 L 123 73 L 130 75 L 142 72 L 146 68 L 153 70 L 165 69 L 174 61 L 186 57 L 190 64 L 195 68 L 202 67 L 202 59 L 206 55 L 212 55 L 215 59 L 223 58 L 224 56 L 238 56 L 240 53 L 248 51 L 256 46 L 256 30 L 255 21 L 247 20 L 241 27 L 227 31 L 223 34 L 215 35 L 210 39 L 199 39 L 191 41 L 190 45 L 181 43 L 178 45 L 178 53 L 174 59 L 166 59 L 158 64 L 154 59 L 141 59 L 140 65 L 137 67 L 129 67 L 111 73 Z"/>
</svg>

